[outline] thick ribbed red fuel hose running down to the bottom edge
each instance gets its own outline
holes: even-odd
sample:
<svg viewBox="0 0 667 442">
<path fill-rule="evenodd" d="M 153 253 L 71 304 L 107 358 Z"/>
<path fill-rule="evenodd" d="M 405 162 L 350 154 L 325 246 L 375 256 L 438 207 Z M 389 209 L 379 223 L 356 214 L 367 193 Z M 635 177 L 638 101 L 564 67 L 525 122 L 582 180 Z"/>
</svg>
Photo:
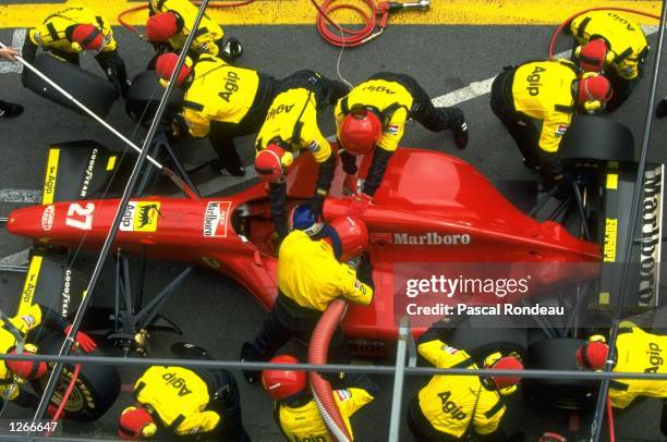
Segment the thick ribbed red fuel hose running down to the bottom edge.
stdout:
<svg viewBox="0 0 667 442">
<path fill-rule="evenodd" d="M 331 335 L 333 335 L 347 308 L 348 303 L 342 299 L 335 299 L 322 315 L 308 344 L 308 364 L 327 364 L 327 353 L 329 352 Z M 352 441 L 348 427 L 333 398 L 331 384 L 315 371 L 308 373 L 308 379 L 313 390 L 313 397 L 331 437 L 339 442 Z"/>
</svg>

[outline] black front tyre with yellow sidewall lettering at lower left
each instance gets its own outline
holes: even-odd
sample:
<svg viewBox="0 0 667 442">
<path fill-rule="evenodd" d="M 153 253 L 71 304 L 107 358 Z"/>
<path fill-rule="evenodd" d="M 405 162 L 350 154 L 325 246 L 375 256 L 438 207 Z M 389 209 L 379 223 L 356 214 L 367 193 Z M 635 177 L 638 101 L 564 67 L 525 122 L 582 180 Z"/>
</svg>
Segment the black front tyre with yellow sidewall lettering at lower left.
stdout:
<svg viewBox="0 0 667 442">
<path fill-rule="evenodd" d="M 62 335 L 50 334 L 38 343 L 40 354 L 57 355 L 62 344 Z M 78 349 L 72 349 L 72 355 L 82 355 Z M 94 356 L 105 356 L 99 349 L 92 353 Z M 49 363 L 52 366 L 53 363 Z M 72 379 L 74 367 L 65 365 L 60 377 L 52 403 L 60 405 L 60 400 Z M 37 393 L 43 393 L 48 381 L 48 376 L 33 381 L 33 388 Z M 64 417 L 80 421 L 92 421 L 101 417 L 113 405 L 120 393 L 120 378 L 113 367 L 101 365 L 82 364 L 78 378 L 64 407 Z"/>
</svg>

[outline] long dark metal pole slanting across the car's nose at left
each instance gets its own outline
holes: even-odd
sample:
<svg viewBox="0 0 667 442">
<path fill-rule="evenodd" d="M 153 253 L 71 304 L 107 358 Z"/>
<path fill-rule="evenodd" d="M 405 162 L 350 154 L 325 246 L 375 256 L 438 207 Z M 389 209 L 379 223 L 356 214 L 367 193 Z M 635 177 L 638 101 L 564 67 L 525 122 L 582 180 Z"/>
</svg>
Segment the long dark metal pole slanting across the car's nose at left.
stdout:
<svg viewBox="0 0 667 442">
<path fill-rule="evenodd" d="M 187 36 L 183 51 L 179 56 L 177 66 L 173 73 L 171 74 L 171 78 L 169 81 L 169 86 L 167 87 L 167 90 L 165 91 L 165 95 L 162 96 L 162 99 L 160 100 L 160 105 L 158 106 L 156 115 L 153 119 L 153 123 L 150 124 L 150 128 L 148 130 L 148 134 L 146 136 L 146 139 L 144 140 L 144 145 L 142 146 L 140 157 L 136 160 L 136 163 L 134 164 L 134 169 L 132 170 L 132 175 L 130 175 L 130 181 L 128 181 L 128 185 L 125 186 L 121 201 L 118 205 L 118 208 L 116 210 L 116 217 L 113 218 L 111 230 L 109 231 L 109 234 L 107 235 L 107 238 L 105 240 L 105 244 L 102 245 L 99 258 L 97 259 L 95 268 L 93 269 L 90 281 L 88 282 L 88 286 L 86 287 L 86 292 L 85 292 L 86 296 L 83 298 L 81 305 L 78 306 L 78 310 L 76 311 L 76 316 L 74 317 L 74 321 L 72 323 L 72 328 L 70 329 L 70 333 L 65 337 L 62 344 L 62 347 L 60 348 L 59 355 L 63 355 L 63 354 L 66 355 L 68 353 L 70 353 L 70 349 L 72 348 L 72 345 L 74 344 L 74 336 L 76 336 L 76 333 L 83 320 L 83 316 L 88 307 L 90 299 L 93 298 L 93 291 L 95 288 L 95 285 L 97 284 L 99 274 L 101 273 L 102 265 L 107 258 L 107 255 L 109 254 L 111 244 L 113 243 L 113 238 L 116 237 L 116 233 L 118 232 L 118 228 L 120 225 L 121 218 L 124 211 L 123 209 L 128 206 L 128 201 L 130 200 L 130 195 L 132 194 L 132 191 L 134 186 L 136 185 L 136 182 L 140 176 L 140 171 L 142 167 L 144 165 L 144 161 L 146 160 L 148 156 L 148 146 L 150 146 L 150 143 L 153 142 L 153 137 L 155 136 L 157 127 L 160 124 L 160 119 L 162 116 L 162 113 L 165 112 L 165 109 L 167 108 L 167 100 L 169 99 L 169 95 L 171 94 L 171 91 L 173 90 L 175 86 L 175 78 L 178 77 L 181 71 L 181 67 L 183 67 L 183 64 L 185 62 L 185 57 L 187 54 L 187 50 L 192 46 L 192 41 L 194 40 L 196 30 L 199 27 L 199 23 L 202 22 L 202 16 L 204 15 L 204 11 L 206 10 L 206 7 L 208 5 L 208 1 L 209 0 L 202 1 L 202 5 L 199 7 L 199 10 L 197 12 L 197 16 L 195 19 L 193 29 Z M 131 308 L 131 306 L 129 308 Z M 49 380 L 47 382 L 47 385 L 45 386 L 44 394 L 41 395 L 41 398 L 39 401 L 39 406 L 37 407 L 37 410 L 35 412 L 33 421 L 39 420 L 44 416 L 47 409 L 47 406 L 49 402 L 51 401 L 51 396 L 53 395 L 53 392 L 56 391 L 56 385 L 58 384 L 58 380 L 60 378 L 60 375 L 62 373 L 62 369 L 63 369 L 63 365 L 61 363 L 57 363 L 53 369 L 51 370 Z"/>
</svg>

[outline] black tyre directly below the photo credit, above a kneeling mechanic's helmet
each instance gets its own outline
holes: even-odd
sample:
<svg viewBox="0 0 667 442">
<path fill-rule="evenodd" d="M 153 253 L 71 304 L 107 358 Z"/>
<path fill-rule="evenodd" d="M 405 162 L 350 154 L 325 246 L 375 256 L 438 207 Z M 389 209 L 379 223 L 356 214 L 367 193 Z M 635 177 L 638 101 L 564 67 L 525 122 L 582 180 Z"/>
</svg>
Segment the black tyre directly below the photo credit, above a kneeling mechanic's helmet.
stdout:
<svg viewBox="0 0 667 442">
<path fill-rule="evenodd" d="M 454 348 L 464 349 L 477 363 L 492 353 L 504 355 L 516 353 L 523 356 L 527 334 L 507 317 L 469 316 L 452 324 L 447 332 L 446 343 Z"/>
</svg>

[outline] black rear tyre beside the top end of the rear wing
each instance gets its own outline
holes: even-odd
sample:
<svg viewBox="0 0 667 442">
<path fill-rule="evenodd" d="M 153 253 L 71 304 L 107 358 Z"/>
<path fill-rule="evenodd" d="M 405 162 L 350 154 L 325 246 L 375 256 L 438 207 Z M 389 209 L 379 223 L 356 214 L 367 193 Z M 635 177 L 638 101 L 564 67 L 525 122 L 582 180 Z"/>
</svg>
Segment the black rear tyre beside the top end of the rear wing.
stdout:
<svg viewBox="0 0 667 442">
<path fill-rule="evenodd" d="M 594 115 L 572 118 L 558 156 L 566 169 L 607 161 L 636 161 L 632 132 L 621 123 Z"/>
</svg>

